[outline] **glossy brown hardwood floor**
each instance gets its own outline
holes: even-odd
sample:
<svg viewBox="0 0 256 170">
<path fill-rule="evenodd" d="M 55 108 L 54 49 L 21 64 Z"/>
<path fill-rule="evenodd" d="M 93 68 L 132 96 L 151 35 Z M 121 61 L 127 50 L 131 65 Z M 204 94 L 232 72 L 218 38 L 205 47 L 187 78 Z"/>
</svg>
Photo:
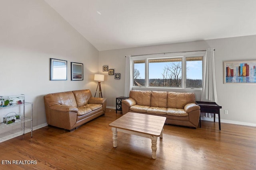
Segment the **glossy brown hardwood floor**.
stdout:
<svg viewBox="0 0 256 170">
<path fill-rule="evenodd" d="M 202 121 L 202 128 L 164 125 L 157 158 L 151 158 L 151 140 L 118 133 L 113 148 L 109 123 L 120 112 L 107 109 L 78 129 L 68 132 L 44 127 L 0 143 L 0 169 L 58 170 L 218 170 L 256 169 L 256 127 Z M 3 164 L 3 160 L 36 160 L 36 164 Z"/>
</svg>

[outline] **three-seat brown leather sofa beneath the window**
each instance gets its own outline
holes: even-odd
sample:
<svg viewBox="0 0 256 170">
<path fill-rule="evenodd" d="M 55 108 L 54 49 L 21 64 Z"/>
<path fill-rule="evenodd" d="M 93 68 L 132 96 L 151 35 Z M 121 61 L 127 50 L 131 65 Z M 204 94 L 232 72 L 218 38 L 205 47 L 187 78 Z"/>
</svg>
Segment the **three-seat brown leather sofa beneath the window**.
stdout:
<svg viewBox="0 0 256 170">
<path fill-rule="evenodd" d="M 144 113 L 166 117 L 166 124 L 198 127 L 200 106 L 194 93 L 131 90 L 122 100 L 122 112 Z"/>
</svg>

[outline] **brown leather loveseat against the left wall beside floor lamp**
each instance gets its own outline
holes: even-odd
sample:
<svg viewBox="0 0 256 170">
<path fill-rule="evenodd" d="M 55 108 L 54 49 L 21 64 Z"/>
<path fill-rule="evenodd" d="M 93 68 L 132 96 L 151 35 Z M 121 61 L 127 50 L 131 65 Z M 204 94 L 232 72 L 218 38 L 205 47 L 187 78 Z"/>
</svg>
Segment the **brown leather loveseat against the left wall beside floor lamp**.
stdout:
<svg viewBox="0 0 256 170">
<path fill-rule="evenodd" d="M 90 90 L 59 92 L 44 96 L 48 125 L 74 130 L 105 114 L 106 99 L 94 98 Z"/>
</svg>

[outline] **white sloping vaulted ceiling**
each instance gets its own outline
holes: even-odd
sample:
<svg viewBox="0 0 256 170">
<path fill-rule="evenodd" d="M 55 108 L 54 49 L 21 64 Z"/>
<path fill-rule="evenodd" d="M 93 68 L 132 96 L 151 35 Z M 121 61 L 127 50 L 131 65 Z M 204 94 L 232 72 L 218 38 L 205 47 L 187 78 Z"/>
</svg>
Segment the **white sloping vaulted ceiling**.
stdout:
<svg viewBox="0 0 256 170">
<path fill-rule="evenodd" d="M 256 35 L 256 0 L 45 0 L 98 51 Z"/>
</svg>

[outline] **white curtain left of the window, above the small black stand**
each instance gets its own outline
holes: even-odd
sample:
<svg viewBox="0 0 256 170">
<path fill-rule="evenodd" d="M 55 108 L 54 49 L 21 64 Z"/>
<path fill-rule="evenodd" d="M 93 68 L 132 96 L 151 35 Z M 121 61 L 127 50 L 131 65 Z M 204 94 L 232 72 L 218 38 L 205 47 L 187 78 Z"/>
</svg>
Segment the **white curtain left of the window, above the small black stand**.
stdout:
<svg viewBox="0 0 256 170">
<path fill-rule="evenodd" d="M 126 55 L 126 70 L 125 70 L 125 85 L 124 96 L 129 97 L 130 90 L 132 90 L 132 60 L 131 55 Z"/>
</svg>

